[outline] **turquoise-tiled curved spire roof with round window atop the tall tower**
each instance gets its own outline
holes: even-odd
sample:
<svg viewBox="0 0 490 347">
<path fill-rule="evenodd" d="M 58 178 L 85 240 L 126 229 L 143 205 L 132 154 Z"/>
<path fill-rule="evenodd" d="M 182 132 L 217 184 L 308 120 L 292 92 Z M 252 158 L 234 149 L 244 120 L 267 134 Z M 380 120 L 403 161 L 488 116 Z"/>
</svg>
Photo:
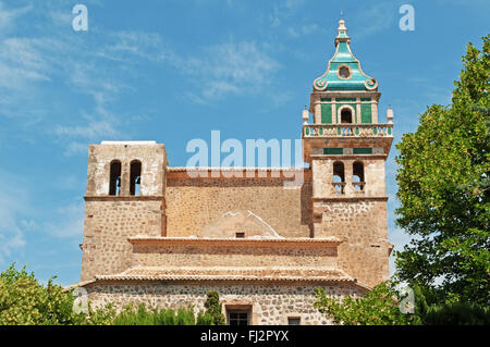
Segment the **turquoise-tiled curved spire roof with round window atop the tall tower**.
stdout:
<svg viewBox="0 0 490 347">
<path fill-rule="evenodd" d="M 363 72 L 360 62 L 352 53 L 344 20 L 339 21 L 338 32 L 335 54 L 329 61 L 327 72 L 315 79 L 314 91 L 378 90 L 378 82 Z"/>
</svg>

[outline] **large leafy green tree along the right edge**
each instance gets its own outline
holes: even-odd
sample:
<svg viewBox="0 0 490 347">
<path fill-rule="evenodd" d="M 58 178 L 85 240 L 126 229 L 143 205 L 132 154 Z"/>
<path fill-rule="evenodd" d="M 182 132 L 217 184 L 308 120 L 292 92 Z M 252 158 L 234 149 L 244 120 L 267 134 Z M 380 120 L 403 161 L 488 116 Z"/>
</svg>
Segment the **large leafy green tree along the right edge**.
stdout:
<svg viewBox="0 0 490 347">
<path fill-rule="evenodd" d="M 395 252 L 397 276 L 429 305 L 490 302 L 489 39 L 468 44 L 452 104 L 429 107 L 396 146 L 396 223 L 415 236 Z"/>
</svg>

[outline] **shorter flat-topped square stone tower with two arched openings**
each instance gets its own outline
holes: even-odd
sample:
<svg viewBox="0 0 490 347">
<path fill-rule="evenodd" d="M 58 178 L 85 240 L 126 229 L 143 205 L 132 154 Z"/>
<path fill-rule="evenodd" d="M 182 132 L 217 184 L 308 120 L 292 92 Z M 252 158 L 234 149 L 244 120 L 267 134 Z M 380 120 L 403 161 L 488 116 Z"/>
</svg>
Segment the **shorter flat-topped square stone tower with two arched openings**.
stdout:
<svg viewBox="0 0 490 347">
<path fill-rule="evenodd" d="M 130 268 L 128 237 L 164 235 L 166 171 L 166 148 L 155 141 L 89 146 L 82 281 Z"/>
</svg>

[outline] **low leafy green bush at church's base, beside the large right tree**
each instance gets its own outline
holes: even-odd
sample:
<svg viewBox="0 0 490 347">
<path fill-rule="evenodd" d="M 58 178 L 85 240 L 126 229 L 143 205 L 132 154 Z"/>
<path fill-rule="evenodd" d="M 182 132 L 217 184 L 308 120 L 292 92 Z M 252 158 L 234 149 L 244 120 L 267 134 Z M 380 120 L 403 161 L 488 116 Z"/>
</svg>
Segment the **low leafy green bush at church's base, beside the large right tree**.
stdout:
<svg viewBox="0 0 490 347">
<path fill-rule="evenodd" d="M 366 296 L 343 299 L 328 296 L 323 288 L 317 288 L 317 301 L 314 307 L 335 324 L 345 325 L 406 325 L 415 323 L 411 313 L 402 313 L 402 297 L 391 282 L 383 282 Z"/>
</svg>

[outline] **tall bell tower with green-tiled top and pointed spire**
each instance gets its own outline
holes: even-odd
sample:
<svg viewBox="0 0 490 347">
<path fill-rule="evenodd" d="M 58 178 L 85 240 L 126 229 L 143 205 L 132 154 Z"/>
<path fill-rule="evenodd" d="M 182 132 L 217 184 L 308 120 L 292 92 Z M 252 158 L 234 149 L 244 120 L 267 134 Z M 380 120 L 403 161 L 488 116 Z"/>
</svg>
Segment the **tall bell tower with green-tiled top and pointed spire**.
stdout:
<svg viewBox="0 0 490 347">
<path fill-rule="evenodd" d="M 393 111 L 378 116 L 378 82 L 364 73 L 339 22 L 335 53 L 315 79 L 303 112 L 304 161 L 313 176 L 314 237 L 336 236 L 339 265 L 360 283 L 389 277 L 385 161 L 393 141 Z M 313 122 L 309 121 L 313 114 Z"/>
</svg>

